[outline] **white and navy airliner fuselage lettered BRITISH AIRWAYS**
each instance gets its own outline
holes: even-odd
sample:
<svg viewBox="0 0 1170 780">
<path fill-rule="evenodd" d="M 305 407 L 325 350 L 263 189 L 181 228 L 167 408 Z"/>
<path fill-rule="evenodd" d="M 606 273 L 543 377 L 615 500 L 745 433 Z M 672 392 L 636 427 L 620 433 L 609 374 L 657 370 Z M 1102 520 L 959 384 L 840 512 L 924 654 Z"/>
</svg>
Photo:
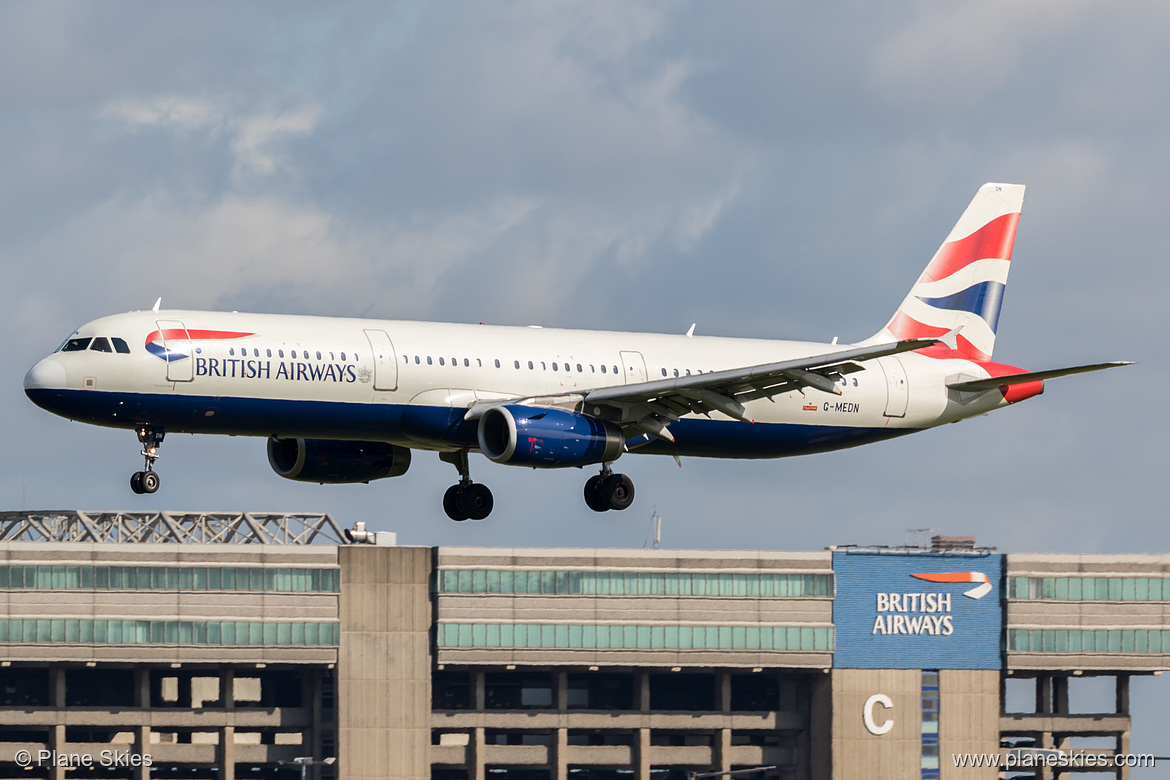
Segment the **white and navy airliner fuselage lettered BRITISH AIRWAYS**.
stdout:
<svg viewBox="0 0 1170 780">
<path fill-rule="evenodd" d="M 187 338 L 190 336 L 190 339 Z M 129 353 L 58 351 L 29 372 L 39 405 L 96 424 L 475 449 L 475 402 L 560 396 L 845 348 L 804 341 L 236 312 L 146 311 L 73 338 Z M 153 340 L 151 340 L 153 339 Z M 687 415 L 646 451 L 776 457 L 860 444 L 1006 406 L 945 384 L 982 364 L 903 353 L 862 364 L 840 394 L 811 387 L 745 405 L 750 422 Z M 963 402 L 965 401 L 965 402 Z M 425 412 L 424 412 L 425 410 Z M 405 416 L 404 416 L 405 415 Z M 472 433 L 469 433 L 472 432 Z"/>
</svg>

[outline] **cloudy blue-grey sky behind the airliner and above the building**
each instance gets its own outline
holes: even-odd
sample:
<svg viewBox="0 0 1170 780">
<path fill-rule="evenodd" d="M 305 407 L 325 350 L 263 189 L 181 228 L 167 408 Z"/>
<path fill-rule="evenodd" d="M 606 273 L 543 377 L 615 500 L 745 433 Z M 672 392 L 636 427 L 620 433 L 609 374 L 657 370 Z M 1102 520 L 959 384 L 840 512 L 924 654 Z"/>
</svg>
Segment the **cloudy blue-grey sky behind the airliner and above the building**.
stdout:
<svg viewBox="0 0 1170 780">
<path fill-rule="evenodd" d="M 1168 553 L 1168 30 L 1165 4 L 1082 0 L 2 4 L 0 505 L 328 511 L 426 545 L 639 547 L 658 512 L 668 547 L 936 529 Z M 136 496 L 131 433 L 21 389 L 75 327 L 160 296 L 859 340 L 985 181 L 1027 185 L 996 359 L 1137 365 L 841 453 L 627 456 L 625 512 L 585 508 L 590 472 L 473 456 L 496 509 L 455 524 L 433 455 L 302 485 L 262 440 L 179 435 Z"/>
</svg>

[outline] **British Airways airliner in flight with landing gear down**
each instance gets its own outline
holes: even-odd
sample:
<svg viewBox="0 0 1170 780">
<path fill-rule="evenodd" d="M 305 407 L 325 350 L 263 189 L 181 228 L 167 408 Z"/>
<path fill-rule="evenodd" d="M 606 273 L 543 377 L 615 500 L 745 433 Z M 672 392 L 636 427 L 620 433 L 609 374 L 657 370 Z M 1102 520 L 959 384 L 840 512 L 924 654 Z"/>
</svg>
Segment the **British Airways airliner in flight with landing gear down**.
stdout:
<svg viewBox="0 0 1170 780">
<path fill-rule="evenodd" d="M 598 467 L 594 511 L 624 510 L 626 453 L 771 458 L 856 447 L 1017 403 L 1048 379 L 1124 361 L 1027 372 L 993 363 L 1024 186 L 986 184 L 890 320 L 855 344 L 240 312 L 150 311 L 78 327 L 25 378 L 37 406 L 132 429 L 159 488 L 167 433 L 268 439 L 277 475 L 397 477 L 412 450 L 459 471 L 454 520 L 491 491 L 469 453 L 526 468 Z M 681 461 L 680 461 L 681 464 Z"/>
</svg>

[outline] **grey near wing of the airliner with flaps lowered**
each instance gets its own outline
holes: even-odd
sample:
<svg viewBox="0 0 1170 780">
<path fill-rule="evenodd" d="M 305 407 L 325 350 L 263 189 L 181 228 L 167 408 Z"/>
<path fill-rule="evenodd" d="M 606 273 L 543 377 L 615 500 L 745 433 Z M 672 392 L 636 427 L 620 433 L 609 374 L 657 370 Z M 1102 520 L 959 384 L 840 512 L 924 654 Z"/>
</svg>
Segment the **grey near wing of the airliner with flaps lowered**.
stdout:
<svg viewBox="0 0 1170 780">
<path fill-rule="evenodd" d="M 904 339 L 872 346 L 838 350 L 825 354 L 742 368 L 691 374 L 672 379 L 618 385 L 586 391 L 585 408 L 605 407 L 600 416 L 667 441 L 667 426 L 684 414 L 722 412 L 751 422 L 744 402 L 813 387 L 840 395 L 835 380 L 861 371 L 863 360 L 910 352 L 938 344 L 940 339 Z"/>
</svg>

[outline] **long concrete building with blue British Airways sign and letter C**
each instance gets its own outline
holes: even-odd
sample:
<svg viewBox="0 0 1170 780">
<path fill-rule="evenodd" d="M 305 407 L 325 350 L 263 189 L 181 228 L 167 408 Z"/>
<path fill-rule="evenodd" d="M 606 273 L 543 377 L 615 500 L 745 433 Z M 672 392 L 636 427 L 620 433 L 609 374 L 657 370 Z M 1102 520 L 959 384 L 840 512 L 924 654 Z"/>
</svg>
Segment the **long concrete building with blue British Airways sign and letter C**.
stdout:
<svg viewBox="0 0 1170 780">
<path fill-rule="evenodd" d="M 991 779 L 952 757 L 1129 753 L 1170 662 L 1170 555 L 392 537 L 0 513 L 0 776 Z"/>
</svg>

